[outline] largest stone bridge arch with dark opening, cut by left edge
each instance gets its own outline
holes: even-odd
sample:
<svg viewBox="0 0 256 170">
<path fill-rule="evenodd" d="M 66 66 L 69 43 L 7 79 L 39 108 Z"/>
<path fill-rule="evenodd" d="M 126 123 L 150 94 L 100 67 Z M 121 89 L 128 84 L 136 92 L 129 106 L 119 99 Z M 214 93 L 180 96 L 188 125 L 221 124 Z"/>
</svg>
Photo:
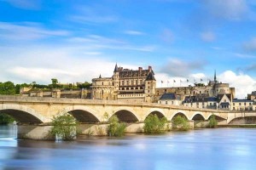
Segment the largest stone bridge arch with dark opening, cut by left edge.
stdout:
<svg viewBox="0 0 256 170">
<path fill-rule="evenodd" d="M 37 111 L 26 105 L 18 104 L 2 104 L 0 105 L 0 113 L 6 113 L 15 118 L 17 122 L 23 123 L 43 123 L 48 120 Z"/>
</svg>

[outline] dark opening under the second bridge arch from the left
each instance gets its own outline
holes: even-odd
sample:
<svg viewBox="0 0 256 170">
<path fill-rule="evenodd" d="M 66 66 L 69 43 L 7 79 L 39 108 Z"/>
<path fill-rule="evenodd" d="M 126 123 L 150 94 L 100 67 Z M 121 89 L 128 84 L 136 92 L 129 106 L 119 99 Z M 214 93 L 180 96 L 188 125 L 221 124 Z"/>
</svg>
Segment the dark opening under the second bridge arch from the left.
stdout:
<svg viewBox="0 0 256 170">
<path fill-rule="evenodd" d="M 78 122 L 100 122 L 96 118 L 96 116 L 94 116 L 88 111 L 73 110 L 73 111 L 68 111 L 68 113 L 72 115 Z"/>
</svg>

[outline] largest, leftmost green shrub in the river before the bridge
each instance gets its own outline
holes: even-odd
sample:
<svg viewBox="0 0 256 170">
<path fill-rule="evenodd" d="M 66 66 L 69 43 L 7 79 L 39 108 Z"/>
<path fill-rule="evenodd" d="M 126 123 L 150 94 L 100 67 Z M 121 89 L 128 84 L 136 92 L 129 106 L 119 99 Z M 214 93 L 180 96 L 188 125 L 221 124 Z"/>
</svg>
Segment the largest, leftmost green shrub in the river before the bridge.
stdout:
<svg viewBox="0 0 256 170">
<path fill-rule="evenodd" d="M 77 122 L 73 116 L 67 113 L 61 116 L 54 116 L 52 119 L 53 127 L 49 134 L 55 136 L 57 139 L 72 140 L 77 135 Z"/>
</svg>

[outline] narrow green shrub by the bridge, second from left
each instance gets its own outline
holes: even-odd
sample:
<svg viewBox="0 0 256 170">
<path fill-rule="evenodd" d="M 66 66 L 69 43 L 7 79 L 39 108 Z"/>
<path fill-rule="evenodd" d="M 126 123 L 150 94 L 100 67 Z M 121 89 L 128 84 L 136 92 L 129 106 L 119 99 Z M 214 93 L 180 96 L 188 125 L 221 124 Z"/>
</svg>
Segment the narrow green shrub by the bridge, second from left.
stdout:
<svg viewBox="0 0 256 170">
<path fill-rule="evenodd" d="M 110 117 L 108 123 L 108 136 L 120 137 L 125 134 L 125 123 L 119 122 L 116 115 Z"/>
</svg>

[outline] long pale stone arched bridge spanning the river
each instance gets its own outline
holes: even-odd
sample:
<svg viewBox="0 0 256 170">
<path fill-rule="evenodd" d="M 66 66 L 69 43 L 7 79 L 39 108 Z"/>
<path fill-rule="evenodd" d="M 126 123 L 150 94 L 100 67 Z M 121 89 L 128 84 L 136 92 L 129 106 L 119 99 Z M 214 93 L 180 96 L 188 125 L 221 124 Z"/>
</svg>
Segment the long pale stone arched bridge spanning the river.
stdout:
<svg viewBox="0 0 256 170">
<path fill-rule="evenodd" d="M 117 100 L 94 99 L 56 99 L 42 97 L 20 97 L 0 95 L 0 113 L 13 116 L 20 124 L 47 124 L 53 116 L 67 112 L 78 122 L 84 124 L 106 123 L 108 117 L 114 114 L 121 122 L 143 123 L 149 114 L 166 117 L 172 122 L 175 116 L 184 116 L 189 122 L 207 122 L 215 115 L 219 124 L 228 124 L 241 117 L 256 116 L 256 112 L 234 112 L 209 109 L 198 109 L 175 105 L 160 105 L 154 103 L 124 102 Z"/>
</svg>

